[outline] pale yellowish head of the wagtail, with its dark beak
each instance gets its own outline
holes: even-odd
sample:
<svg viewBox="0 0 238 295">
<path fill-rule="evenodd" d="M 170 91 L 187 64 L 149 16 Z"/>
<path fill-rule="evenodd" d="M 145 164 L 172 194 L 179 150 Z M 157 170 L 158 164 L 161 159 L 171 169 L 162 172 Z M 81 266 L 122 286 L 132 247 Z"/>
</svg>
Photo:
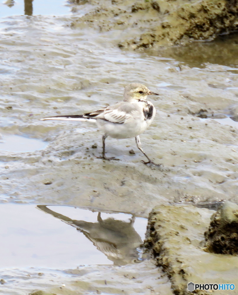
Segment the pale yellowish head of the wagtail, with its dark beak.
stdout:
<svg viewBox="0 0 238 295">
<path fill-rule="evenodd" d="M 125 87 L 124 101 L 133 99 L 146 100 L 147 95 L 159 95 L 151 92 L 145 85 L 139 83 L 131 83 Z"/>
</svg>

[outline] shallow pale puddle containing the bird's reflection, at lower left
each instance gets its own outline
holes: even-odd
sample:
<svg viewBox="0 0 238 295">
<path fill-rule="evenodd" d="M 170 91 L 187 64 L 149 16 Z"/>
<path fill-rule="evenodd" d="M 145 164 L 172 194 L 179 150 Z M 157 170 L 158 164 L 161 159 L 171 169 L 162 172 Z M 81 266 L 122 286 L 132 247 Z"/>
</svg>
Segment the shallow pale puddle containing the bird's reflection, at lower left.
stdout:
<svg viewBox="0 0 238 295">
<path fill-rule="evenodd" d="M 147 219 L 131 218 L 67 206 L 0 204 L 0 268 L 139 262 Z"/>
</svg>

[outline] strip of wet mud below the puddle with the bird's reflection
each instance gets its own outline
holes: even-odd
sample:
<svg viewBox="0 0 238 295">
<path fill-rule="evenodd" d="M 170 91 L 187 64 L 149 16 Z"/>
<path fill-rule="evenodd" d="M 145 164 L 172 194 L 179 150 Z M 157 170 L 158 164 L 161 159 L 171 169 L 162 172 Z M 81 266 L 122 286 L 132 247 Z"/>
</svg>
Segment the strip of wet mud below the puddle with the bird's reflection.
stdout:
<svg viewBox="0 0 238 295">
<path fill-rule="evenodd" d="M 91 265 L 64 271 L 10 268 L 1 269 L 0 275 L 5 281 L 0 290 L 4 295 L 173 294 L 167 276 L 152 260 L 133 266 Z"/>
</svg>

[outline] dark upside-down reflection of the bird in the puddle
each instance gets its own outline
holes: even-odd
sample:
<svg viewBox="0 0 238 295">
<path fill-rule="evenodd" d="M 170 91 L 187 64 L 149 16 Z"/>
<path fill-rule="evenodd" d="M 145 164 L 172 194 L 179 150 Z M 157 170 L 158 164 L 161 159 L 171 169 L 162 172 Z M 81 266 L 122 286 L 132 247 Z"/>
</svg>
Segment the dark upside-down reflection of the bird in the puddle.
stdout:
<svg viewBox="0 0 238 295">
<path fill-rule="evenodd" d="M 142 240 L 133 227 L 135 217 L 132 217 L 130 222 L 116 220 L 111 217 L 103 220 L 101 213 L 98 212 L 97 222 L 87 222 L 73 220 L 52 211 L 46 205 L 38 205 L 37 207 L 82 232 L 99 251 L 113 261 L 114 265 L 125 265 L 141 261 L 139 260 L 137 248 L 140 247 Z"/>
</svg>

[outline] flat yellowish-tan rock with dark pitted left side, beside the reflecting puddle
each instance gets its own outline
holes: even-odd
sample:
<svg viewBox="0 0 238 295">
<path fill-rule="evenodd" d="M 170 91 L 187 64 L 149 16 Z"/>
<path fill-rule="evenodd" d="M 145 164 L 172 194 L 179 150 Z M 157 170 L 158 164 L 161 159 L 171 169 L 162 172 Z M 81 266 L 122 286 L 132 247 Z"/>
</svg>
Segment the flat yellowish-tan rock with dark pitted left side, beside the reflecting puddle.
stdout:
<svg viewBox="0 0 238 295">
<path fill-rule="evenodd" d="M 213 212 L 191 205 L 161 205 L 149 214 L 144 246 L 170 278 L 176 295 L 191 294 L 188 291 L 190 282 L 219 285 L 237 281 L 238 256 L 204 251 L 204 231 Z M 196 294 L 207 295 L 213 291 L 196 290 Z M 224 290 L 214 292 L 224 295 Z M 235 290 L 228 293 L 237 294 Z"/>
</svg>

